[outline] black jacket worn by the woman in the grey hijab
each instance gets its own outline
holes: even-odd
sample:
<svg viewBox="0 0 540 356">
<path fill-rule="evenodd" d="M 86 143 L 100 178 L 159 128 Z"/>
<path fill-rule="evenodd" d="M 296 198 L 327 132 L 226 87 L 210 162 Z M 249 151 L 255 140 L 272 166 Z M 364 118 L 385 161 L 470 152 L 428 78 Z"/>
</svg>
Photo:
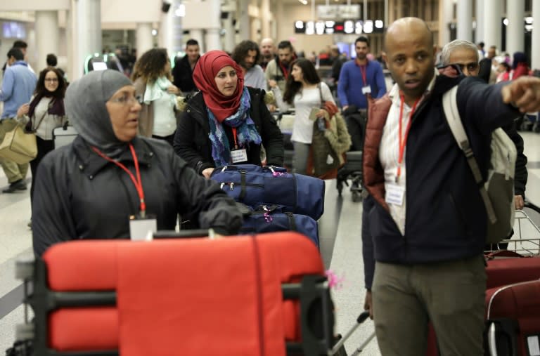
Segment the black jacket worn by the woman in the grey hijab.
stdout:
<svg viewBox="0 0 540 356">
<path fill-rule="evenodd" d="M 174 230 L 178 213 L 202 228 L 232 235 L 242 223 L 233 199 L 186 166 L 160 140 L 135 138 L 146 211 L 158 230 Z M 119 159 L 135 172 L 131 152 Z M 128 174 L 99 157 L 82 138 L 44 157 L 32 204 L 34 253 L 71 239 L 129 239 L 129 216 L 139 213 L 139 195 Z"/>
</svg>

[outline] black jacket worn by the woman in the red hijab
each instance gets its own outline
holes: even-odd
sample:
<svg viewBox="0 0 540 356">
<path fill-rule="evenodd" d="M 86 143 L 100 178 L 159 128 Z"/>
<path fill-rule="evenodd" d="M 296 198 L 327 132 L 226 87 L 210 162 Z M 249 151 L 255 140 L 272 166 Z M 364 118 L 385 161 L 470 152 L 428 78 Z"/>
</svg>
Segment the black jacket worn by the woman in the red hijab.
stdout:
<svg viewBox="0 0 540 356">
<path fill-rule="evenodd" d="M 262 145 L 266 150 L 266 163 L 283 166 L 283 134 L 264 104 L 264 91 L 255 88 L 248 88 L 248 91 L 251 97 L 250 117 L 262 138 Z M 212 143 L 208 138 L 210 134 L 208 120 L 203 94 L 197 93 L 189 100 L 186 110 L 181 114 L 174 136 L 174 151 L 199 174 L 207 168 L 216 166 L 212 159 Z M 226 125 L 224 128 L 233 147 L 232 129 Z M 250 145 L 246 163 L 261 165 L 259 145 Z"/>
</svg>

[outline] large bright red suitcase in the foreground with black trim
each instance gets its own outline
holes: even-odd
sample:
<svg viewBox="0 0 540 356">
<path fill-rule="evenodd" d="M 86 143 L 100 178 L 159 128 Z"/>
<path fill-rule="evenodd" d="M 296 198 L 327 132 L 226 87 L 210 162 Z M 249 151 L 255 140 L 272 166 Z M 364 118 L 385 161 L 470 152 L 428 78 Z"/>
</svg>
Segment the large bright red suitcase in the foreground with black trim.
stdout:
<svg viewBox="0 0 540 356">
<path fill-rule="evenodd" d="M 295 232 L 66 242 L 32 279 L 35 355 L 327 355 L 334 341 L 319 251 Z"/>
</svg>

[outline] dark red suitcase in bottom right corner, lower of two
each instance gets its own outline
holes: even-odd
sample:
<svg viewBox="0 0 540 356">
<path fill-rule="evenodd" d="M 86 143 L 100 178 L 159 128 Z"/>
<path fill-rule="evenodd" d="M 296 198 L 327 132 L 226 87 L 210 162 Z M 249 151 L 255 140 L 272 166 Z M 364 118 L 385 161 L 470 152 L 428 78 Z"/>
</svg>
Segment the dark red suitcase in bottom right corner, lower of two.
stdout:
<svg viewBox="0 0 540 356">
<path fill-rule="evenodd" d="M 540 355 L 540 280 L 486 293 L 489 355 Z"/>
</svg>

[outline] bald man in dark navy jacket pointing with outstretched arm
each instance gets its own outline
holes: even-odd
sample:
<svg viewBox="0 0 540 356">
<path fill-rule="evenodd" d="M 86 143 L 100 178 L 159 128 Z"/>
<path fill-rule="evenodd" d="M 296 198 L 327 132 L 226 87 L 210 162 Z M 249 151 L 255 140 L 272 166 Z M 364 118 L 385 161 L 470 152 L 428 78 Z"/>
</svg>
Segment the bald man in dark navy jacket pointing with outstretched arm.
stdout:
<svg viewBox="0 0 540 356">
<path fill-rule="evenodd" d="M 385 356 L 425 355 L 428 320 L 441 355 L 480 356 L 487 215 L 442 94 L 460 84 L 458 109 L 485 177 L 491 131 L 540 109 L 540 79 L 489 86 L 437 75 L 433 35 L 418 18 L 390 25 L 385 52 L 396 84 L 369 103 L 364 144 L 364 185 L 375 201 L 364 244 L 373 242 L 376 261 L 366 308 Z"/>
</svg>

